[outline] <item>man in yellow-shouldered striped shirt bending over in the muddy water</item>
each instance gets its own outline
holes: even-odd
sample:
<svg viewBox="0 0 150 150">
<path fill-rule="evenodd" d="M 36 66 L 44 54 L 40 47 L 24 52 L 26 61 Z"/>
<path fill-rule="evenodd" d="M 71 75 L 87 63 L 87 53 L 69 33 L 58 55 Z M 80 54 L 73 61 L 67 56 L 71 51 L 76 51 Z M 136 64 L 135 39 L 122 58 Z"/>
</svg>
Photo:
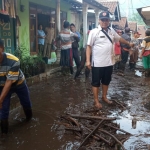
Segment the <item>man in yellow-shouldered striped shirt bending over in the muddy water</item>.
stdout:
<svg viewBox="0 0 150 150">
<path fill-rule="evenodd" d="M 4 43 L 0 39 L 0 120 L 2 135 L 8 133 L 12 93 L 18 95 L 26 120 L 29 121 L 32 118 L 31 101 L 24 74 L 20 70 L 20 61 L 14 55 L 4 52 Z"/>
</svg>

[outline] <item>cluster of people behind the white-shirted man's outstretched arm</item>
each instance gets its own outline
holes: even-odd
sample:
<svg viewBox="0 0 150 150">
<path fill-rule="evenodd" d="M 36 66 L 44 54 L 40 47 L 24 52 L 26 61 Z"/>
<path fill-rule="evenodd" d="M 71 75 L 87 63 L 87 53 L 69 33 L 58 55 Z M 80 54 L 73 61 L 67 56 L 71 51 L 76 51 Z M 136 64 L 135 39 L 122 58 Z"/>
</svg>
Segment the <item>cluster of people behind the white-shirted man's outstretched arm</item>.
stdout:
<svg viewBox="0 0 150 150">
<path fill-rule="evenodd" d="M 125 28 L 125 33 L 121 30 L 117 30 L 117 33 L 124 38 L 125 40 L 132 42 L 134 47 L 130 47 L 126 44 L 122 44 L 120 42 L 115 43 L 114 52 L 115 52 L 115 65 L 114 70 L 118 71 L 118 75 L 124 76 L 124 71 L 126 67 L 126 63 L 128 61 L 128 57 L 130 55 L 129 60 L 129 68 L 130 70 L 136 69 L 136 63 L 139 55 L 140 42 L 138 38 L 140 37 L 140 33 L 135 31 L 133 34 L 133 38 L 130 35 L 130 28 Z"/>
</svg>

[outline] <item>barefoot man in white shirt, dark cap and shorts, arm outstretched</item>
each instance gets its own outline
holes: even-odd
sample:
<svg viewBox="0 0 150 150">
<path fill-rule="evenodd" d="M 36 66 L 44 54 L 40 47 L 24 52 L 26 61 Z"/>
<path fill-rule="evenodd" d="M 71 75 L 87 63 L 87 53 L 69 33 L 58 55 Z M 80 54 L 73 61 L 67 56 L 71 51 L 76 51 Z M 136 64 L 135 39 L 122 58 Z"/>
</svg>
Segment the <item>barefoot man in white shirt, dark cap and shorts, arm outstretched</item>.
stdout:
<svg viewBox="0 0 150 150">
<path fill-rule="evenodd" d="M 111 104 L 107 99 L 108 86 L 113 71 L 114 42 L 121 42 L 133 47 L 134 44 L 121 38 L 114 29 L 109 28 L 109 12 L 103 11 L 99 15 L 99 26 L 91 30 L 86 49 L 86 66 L 92 69 L 92 90 L 94 94 L 95 107 L 102 108 L 98 99 L 99 87 L 102 84 L 102 100 Z M 92 61 L 90 61 L 92 55 Z M 92 66 L 92 67 L 91 67 Z"/>
</svg>

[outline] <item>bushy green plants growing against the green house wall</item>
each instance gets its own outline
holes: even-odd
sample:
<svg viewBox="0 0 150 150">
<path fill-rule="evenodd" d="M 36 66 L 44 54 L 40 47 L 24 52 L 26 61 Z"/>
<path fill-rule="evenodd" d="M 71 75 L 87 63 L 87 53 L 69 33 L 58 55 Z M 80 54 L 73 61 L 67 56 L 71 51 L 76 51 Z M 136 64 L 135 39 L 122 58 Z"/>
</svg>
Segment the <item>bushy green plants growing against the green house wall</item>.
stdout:
<svg viewBox="0 0 150 150">
<path fill-rule="evenodd" d="M 45 62 L 41 55 L 30 56 L 24 47 L 18 47 L 14 55 L 20 59 L 20 67 L 26 77 L 34 76 L 45 71 Z"/>
</svg>

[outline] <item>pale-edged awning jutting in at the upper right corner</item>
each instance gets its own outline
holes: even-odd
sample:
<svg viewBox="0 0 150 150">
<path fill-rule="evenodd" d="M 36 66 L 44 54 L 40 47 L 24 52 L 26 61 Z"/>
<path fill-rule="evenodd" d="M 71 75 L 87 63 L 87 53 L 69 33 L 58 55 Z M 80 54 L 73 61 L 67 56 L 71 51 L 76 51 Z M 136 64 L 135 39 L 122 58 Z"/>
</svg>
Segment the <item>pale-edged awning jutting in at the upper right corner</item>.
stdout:
<svg viewBox="0 0 150 150">
<path fill-rule="evenodd" d="M 138 13 L 142 17 L 146 25 L 150 25 L 150 6 L 138 8 Z"/>
</svg>

